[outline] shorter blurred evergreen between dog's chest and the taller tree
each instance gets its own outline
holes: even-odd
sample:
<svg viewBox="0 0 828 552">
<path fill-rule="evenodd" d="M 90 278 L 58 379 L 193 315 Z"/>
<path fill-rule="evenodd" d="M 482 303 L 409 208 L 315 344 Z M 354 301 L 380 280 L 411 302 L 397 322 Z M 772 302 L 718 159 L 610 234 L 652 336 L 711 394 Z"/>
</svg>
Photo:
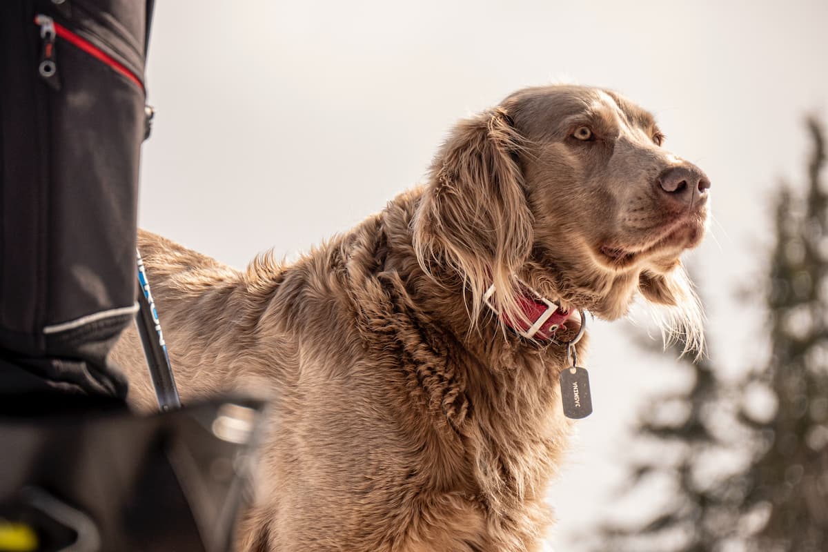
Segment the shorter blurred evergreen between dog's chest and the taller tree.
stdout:
<svg viewBox="0 0 828 552">
<path fill-rule="evenodd" d="M 679 342 L 671 351 L 679 355 L 683 348 Z M 726 408 L 732 397 L 717 381 L 709 358 L 682 357 L 681 369 L 689 372 L 689 388 L 655 397 L 640 416 L 635 448 L 643 449 L 646 458 L 632 461 L 623 488 L 623 493 L 633 493 L 647 480 L 660 478 L 671 482 L 672 496 L 658 500 L 657 511 L 638 524 L 606 521 L 592 535 L 593 550 L 713 552 L 739 540 L 744 492 L 733 484 L 732 471 L 715 465 L 744 442 L 744 435 L 734 435 L 734 428 L 739 429 L 736 412 Z"/>
</svg>

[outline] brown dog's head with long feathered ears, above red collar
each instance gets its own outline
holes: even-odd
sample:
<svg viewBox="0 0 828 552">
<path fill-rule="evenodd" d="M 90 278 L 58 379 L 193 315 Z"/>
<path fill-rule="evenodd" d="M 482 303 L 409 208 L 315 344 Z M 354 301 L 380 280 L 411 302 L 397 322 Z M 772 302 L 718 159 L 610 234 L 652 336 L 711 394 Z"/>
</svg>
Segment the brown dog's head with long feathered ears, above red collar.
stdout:
<svg viewBox="0 0 828 552">
<path fill-rule="evenodd" d="M 520 319 L 518 279 L 607 319 L 639 290 L 700 346 L 679 256 L 705 233 L 710 181 L 663 139 L 650 113 L 614 92 L 512 94 L 460 122 L 436 156 L 413 227 L 421 264 L 456 269 L 475 320 L 491 284 L 499 310 Z"/>
</svg>

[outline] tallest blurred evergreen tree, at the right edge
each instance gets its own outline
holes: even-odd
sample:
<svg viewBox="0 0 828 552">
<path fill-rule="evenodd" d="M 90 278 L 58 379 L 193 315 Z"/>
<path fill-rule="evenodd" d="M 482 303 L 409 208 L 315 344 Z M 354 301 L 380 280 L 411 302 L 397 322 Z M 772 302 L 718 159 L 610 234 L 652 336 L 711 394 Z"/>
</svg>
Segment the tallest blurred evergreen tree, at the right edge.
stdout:
<svg viewBox="0 0 828 552">
<path fill-rule="evenodd" d="M 779 194 L 776 247 L 768 286 L 770 383 L 777 411 L 768 423 L 744 420 L 764 435 L 748 472 L 746 510 L 767 521 L 751 550 L 828 550 L 828 194 L 821 182 L 825 137 L 814 143 L 804 198 Z M 755 376 L 754 376 L 755 377 Z"/>
</svg>

